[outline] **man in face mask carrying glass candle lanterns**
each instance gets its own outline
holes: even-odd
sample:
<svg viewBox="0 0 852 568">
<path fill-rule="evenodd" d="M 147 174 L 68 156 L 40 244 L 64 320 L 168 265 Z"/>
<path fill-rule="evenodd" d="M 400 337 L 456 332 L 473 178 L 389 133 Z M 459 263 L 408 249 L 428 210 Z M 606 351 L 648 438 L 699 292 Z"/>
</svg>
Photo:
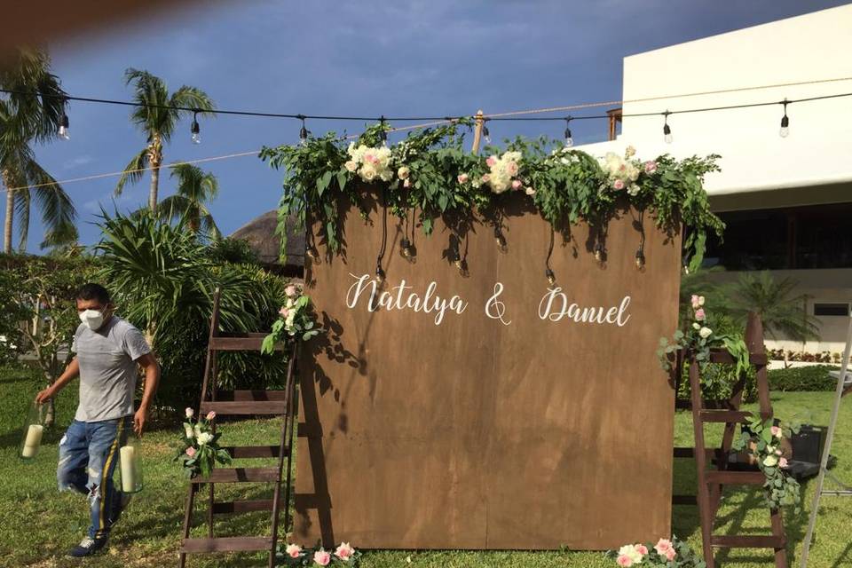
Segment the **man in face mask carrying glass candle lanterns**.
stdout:
<svg viewBox="0 0 852 568">
<path fill-rule="evenodd" d="M 75 490 L 89 497 L 89 533 L 70 552 L 82 557 L 106 545 L 110 530 L 130 501 L 130 495 L 113 484 L 118 448 L 131 427 L 142 435 L 160 381 L 160 367 L 139 330 L 114 315 L 106 288 L 86 284 L 77 291 L 76 300 L 82 321 L 71 344 L 76 356 L 36 400 L 55 397 L 80 376 L 80 404 L 59 442 L 57 478 L 59 491 Z M 134 413 L 137 366 L 145 369 L 145 393 Z"/>
</svg>

